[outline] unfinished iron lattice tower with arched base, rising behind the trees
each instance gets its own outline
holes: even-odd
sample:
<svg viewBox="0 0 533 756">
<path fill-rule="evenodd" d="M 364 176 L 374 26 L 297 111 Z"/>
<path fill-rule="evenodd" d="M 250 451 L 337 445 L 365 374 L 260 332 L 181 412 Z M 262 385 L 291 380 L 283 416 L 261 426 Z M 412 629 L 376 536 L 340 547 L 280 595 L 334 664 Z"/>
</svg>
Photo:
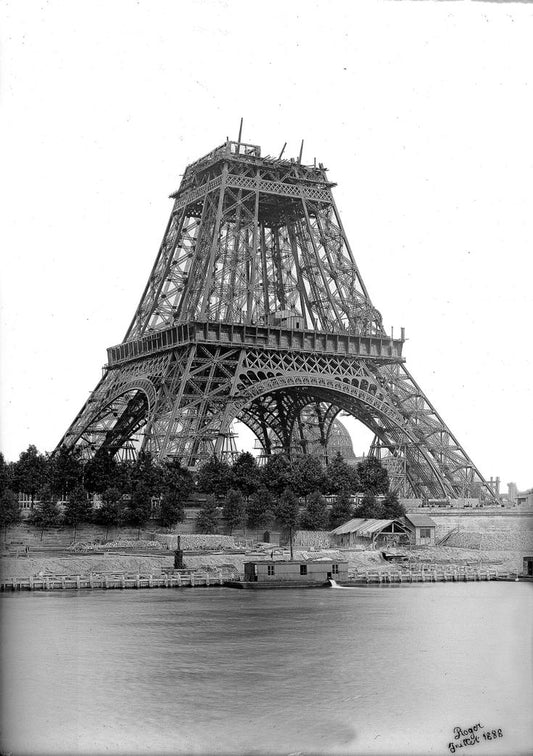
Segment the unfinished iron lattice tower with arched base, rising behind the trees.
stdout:
<svg viewBox="0 0 533 756">
<path fill-rule="evenodd" d="M 226 141 L 189 165 L 123 342 L 62 438 L 189 467 L 238 419 L 263 453 L 327 449 L 336 416 L 370 428 L 408 493 L 493 498 L 407 371 L 373 306 L 320 163 Z"/>
</svg>

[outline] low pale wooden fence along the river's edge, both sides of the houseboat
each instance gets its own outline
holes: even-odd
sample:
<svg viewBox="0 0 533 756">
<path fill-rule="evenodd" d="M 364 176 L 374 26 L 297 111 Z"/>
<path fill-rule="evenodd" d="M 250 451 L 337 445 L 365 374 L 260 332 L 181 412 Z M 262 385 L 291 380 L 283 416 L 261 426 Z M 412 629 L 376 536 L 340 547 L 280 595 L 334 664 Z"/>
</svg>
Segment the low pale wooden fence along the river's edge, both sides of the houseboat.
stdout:
<svg viewBox="0 0 533 756">
<path fill-rule="evenodd" d="M 387 583 L 446 583 L 485 580 L 515 580 L 518 573 L 500 572 L 496 569 L 472 567 L 425 566 L 424 569 L 350 572 L 344 585 L 368 585 Z M 0 582 L 0 591 L 57 591 L 57 590 L 124 590 L 127 588 L 195 588 L 221 586 L 227 581 L 238 580 L 236 571 L 215 572 L 169 572 L 162 575 L 101 573 L 98 575 L 43 575 L 35 577 L 5 578 Z"/>
</svg>

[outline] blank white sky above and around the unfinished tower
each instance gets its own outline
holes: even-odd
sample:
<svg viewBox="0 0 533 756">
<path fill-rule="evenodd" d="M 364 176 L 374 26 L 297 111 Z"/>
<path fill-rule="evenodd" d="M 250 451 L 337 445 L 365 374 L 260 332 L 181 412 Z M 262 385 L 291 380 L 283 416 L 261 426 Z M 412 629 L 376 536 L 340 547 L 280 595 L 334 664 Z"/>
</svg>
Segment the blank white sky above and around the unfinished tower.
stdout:
<svg viewBox="0 0 533 756">
<path fill-rule="evenodd" d="M 6 458 L 55 447 L 168 195 L 243 117 L 263 154 L 304 139 L 329 168 L 408 369 L 486 478 L 533 486 L 532 39 L 524 3 L 0 1 Z"/>
</svg>

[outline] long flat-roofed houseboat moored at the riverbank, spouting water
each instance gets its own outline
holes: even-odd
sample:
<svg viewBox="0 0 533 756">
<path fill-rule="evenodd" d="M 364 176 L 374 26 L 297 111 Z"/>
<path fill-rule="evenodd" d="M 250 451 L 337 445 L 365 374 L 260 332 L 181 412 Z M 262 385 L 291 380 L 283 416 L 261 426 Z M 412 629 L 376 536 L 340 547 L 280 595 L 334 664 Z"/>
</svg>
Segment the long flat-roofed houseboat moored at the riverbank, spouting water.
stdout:
<svg viewBox="0 0 533 756">
<path fill-rule="evenodd" d="M 314 561 L 282 561 L 269 559 L 244 563 L 244 582 L 265 585 L 285 584 L 287 587 L 323 585 L 327 580 L 348 579 L 348 562 L 334 559 Z"/>
</svg>

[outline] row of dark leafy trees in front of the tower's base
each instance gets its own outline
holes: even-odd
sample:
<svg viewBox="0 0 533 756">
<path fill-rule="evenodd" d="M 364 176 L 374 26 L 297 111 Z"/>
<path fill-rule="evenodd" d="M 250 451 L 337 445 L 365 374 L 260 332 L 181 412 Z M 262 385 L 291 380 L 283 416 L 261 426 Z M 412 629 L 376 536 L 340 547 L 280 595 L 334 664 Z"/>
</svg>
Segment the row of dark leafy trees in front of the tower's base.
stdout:
<svg viewBox="0 0 533 756">
<path fill-rule="evenodd" d="M 6 462 L 0 453 L 0 526 L 5 532 L 21 519 L 19 492 L 30 498 L 28 522 L 41 535 L 62 526 L 75 531 L 81 523 L 106 530 L 120 525 L 140 529 L 154 517 L 171 530 L 183 521 L 195 493 L 205 495 L 196 504 L 199 533 L 222 527 L 230 533 L 242 527 L 268 529 L 274 523 L 326 530 L 351 517 L 404 513 L 396 494 L 389 493 L 388 474 L 379 460 L 367 457 L 354 467 L 340 454 L 326 466 L 316 457 L 282 454 L 259 466 L 245 452 L 233 464 L 212 458 L 192 474 L 177 461 L 157 462 L 148 453 L 133 462 L 106 452 L 84 461 L 76 449 L 50 455 L 29 446 L 16 462 Z"/>
</svg>

